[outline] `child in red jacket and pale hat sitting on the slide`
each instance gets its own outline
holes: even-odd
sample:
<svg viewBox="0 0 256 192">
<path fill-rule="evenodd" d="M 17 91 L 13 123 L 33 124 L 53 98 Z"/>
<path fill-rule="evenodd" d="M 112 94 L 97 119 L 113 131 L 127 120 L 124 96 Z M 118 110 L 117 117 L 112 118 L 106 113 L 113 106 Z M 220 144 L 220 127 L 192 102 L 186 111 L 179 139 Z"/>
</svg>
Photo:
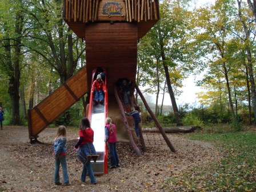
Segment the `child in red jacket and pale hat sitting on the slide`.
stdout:
<svg viewBox="0 0 256 192">
<path fill-rule="evenodd" d="M 106 86 L 105 83 L 101 79 L 101 75 L 97 75 L 97 79 L 93 82 L 93 86 L 91 86 L 91 92 L 94 93 L 93 101 L 98 104 L 104 102 L 104 96 L 102 91 L 106 93 Z"/>
</svg>

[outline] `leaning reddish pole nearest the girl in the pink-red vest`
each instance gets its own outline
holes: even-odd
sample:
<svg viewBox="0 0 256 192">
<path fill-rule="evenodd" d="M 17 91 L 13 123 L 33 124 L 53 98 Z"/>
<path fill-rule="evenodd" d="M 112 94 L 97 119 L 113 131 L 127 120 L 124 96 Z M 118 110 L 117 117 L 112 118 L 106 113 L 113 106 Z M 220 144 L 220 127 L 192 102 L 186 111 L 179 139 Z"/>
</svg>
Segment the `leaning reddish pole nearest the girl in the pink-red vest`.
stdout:
<svg viewBox="0 0 256 192">
<path fill-rule="evenodd" d="M 119 109 L 121 111 L 121 115 L 122 115 L 122 118 L 123 118 L 123 123 L 125 124 L 125 129 L 126 129 L 126 131 L 128 133 L 128 138 L 129 138 L 129 141 L 131 143 L 131 146 L 133 147 L 135 153 L 139 157 L 141 157 L 142 153 L 141 153 L 141 151 L 139 150 L 138 146 L 136 145 L 136 143 L 133 140 L 133 135 L 131 134 L 129 124 L 128 124 L 127 119 L 125 117 L 125 111 L 123 110 L 122 102 L 120 101 L 118 93 L 117 93 L 117 86 L 114 86 L 114 94 L 115 94 L 115 98 L 117 99 L 117 103 L 118 103 Z"/>
</svg>

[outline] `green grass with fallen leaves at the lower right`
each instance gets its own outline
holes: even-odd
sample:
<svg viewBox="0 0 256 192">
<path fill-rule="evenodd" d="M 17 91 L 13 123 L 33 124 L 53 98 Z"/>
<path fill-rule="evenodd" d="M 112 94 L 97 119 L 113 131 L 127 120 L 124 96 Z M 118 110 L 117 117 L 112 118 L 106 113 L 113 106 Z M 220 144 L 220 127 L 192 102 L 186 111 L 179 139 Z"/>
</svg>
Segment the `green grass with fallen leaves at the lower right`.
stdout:
<svg viewBox="0 0 256 192">
<path fill-rule="evenodd" d="M 209 131 L 209 130 L 207 130 Z M 167 191 L 256 191 L 256 134 L 194 133 L 190 139 L 207 141 L 225 157 L 220 162 L 195 166 L 167 181 Z M 225 131 L 223 131 L 225 132 Z"/>
</svg>

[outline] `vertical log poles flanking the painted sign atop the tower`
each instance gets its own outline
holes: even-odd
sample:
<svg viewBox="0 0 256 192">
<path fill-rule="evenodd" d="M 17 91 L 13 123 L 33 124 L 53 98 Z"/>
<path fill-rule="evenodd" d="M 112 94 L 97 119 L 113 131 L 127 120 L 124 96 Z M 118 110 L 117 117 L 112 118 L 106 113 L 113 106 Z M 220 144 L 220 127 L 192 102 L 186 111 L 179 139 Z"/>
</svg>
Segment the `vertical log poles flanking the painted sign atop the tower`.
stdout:
<svg viewBox="0 0 256 192">
<path fill-rule="evenodd" d="M 106 2 L 109 1 L 64 0 L 63 19 L 68 22 L 73 21 L 83 23 L 98 21 L 100 20 L 98 15 L 101 14 L 102 7 Z M 123 0 L 113 0 L 113 2 L 123 3 Z M 125 0 L 125 7 L 122 8 L 127 22 L 158 20 L 158 0 Z M 109 18 L 108 15 L 106 15 L 106 18 L 110 21 L 117 20 L 117 17 Z"/>
</svg>

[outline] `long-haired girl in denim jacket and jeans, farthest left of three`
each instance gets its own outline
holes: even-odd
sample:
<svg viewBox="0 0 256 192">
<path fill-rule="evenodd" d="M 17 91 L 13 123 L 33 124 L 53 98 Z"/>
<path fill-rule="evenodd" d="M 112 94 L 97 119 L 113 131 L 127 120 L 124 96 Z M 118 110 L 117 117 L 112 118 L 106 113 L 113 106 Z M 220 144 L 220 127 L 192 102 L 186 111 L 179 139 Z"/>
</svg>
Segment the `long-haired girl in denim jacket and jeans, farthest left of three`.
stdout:
<svg viewBox="0 0 256 192">
<path fill-rule="evenodd" d="M 61 185 L 59 182 L 59 165 L 62 167 L 63 186 L 70 185 L 69 175 L 67 174 L 67 161 L 66 161 L 66 127 L 59 126 L 56 138 L 54 139 L 54 157 L 55 157 L 55 169 L 54 169 L 54 183 L 55 185 Z"/>
</svg>

